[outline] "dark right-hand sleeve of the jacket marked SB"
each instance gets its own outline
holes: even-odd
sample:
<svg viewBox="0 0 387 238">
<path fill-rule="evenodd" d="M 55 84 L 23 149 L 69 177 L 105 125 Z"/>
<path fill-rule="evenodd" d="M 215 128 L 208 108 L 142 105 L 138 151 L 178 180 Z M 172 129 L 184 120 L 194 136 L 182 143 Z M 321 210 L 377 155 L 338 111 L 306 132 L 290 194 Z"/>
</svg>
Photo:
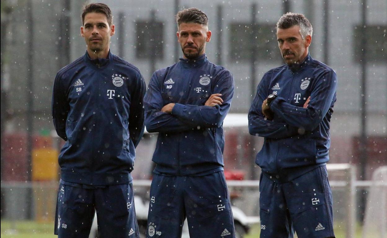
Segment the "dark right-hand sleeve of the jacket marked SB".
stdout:
<svg viewBox="0 0 387 238">
<path fill-rule="evenodd" d="M 130 93 L 130 112 L 129 112 L 129 135 L 134 144 L 134 147 L 140 143 L 141 137 L 144 134 L 144 95 L 146 86 L 144 78 L 140 73 L 137 75 L 137 80 L 130 85 L 132 92 Z"/>
</svg>

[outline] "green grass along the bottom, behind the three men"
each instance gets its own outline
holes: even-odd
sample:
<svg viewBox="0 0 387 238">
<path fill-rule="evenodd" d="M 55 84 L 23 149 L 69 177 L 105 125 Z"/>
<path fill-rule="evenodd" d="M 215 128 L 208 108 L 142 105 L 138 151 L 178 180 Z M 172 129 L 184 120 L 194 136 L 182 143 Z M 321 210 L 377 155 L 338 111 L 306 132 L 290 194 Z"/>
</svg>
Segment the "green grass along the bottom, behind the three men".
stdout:
<svg viewBox="0 0 387 238">
<path fill-rule="evenodd" d="M 53 234 L 54 223 L 39 223 L 36 221 L 16 221 L 14 227 L 8 220 L 1 221 L 2 238 L 57 238 Z M 345 230 L 336 226 L 334 228 L 336 238 L 345 238 Z M 259 238 L 260 226 L 256 225 L 250 229 L 245 238 Z M 356 226 L 354 238 L 361 238 L 361 227 Z"/>
</svg>

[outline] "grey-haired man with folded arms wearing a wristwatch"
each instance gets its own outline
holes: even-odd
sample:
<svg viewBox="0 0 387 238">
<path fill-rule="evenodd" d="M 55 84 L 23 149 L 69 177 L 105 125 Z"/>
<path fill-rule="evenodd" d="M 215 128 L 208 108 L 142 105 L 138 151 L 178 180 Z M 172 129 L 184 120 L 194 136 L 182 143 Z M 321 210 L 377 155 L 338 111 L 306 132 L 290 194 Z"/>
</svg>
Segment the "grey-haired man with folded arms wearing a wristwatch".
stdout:
<svg viewBox="0 0 387 238">
<path fill-rule="evenodd" d="M 248 113 L 249 132 L 264 137 L 260 176 L 260 237 L 334 237 L 329 123 L 337 76 L 312 59 L 312 25 L 284 14 L 277 41 L 286 64 L 264 74 Z"/>
</svg>

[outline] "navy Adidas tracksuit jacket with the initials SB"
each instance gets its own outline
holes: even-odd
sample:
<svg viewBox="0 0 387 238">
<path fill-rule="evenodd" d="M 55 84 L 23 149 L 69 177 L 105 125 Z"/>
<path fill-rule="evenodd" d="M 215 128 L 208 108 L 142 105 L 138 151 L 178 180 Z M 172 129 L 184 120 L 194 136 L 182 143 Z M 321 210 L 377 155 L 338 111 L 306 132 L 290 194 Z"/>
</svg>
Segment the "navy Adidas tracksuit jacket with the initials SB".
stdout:
<svg viewBox="0 0 387 238">
<path fill-rule="evenodd" d="M 144 133 L 144 79 L 135 66 L 111 54 L 86 54 L 58 71 L 52 116 L 66 143 L 59 154 L 61 178 L 88 185 L 123 184 Z"/>
</svg>

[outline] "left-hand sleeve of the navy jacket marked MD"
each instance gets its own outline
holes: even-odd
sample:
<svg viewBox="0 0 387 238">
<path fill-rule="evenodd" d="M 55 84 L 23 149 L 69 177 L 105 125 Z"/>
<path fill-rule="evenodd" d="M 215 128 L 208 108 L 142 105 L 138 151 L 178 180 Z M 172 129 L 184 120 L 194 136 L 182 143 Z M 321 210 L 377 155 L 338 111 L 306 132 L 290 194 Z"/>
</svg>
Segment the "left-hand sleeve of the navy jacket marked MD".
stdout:
<svg viewBox="0 0 387 238">
<path fill-rule="evenodd" d="M 145 126 L 148 132 L 182 132 L 192 130 L 194 127 L 183 123 L 175 116 L 164 113 L 161 108 L 164 106 L 161 95 L 161 85 L 157 78 L 157 71 L 153 73 L 149 82 L 148 91 L 144 97 Z"/>
</svg>

